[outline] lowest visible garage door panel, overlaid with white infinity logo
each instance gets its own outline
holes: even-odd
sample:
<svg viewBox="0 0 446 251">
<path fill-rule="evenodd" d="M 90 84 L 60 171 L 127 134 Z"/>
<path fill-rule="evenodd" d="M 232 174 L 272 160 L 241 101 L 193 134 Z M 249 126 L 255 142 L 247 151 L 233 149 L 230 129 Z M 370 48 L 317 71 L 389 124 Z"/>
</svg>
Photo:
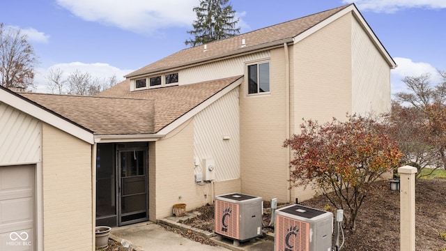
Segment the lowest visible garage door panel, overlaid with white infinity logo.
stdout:
<svg viewBox="0 0 446 251">
<path fill-rule="evenodd" d="M 33 229 L 18 229 L 10 233 L 0 234 L 0 251 L 33 250 Z"/>
</svg>

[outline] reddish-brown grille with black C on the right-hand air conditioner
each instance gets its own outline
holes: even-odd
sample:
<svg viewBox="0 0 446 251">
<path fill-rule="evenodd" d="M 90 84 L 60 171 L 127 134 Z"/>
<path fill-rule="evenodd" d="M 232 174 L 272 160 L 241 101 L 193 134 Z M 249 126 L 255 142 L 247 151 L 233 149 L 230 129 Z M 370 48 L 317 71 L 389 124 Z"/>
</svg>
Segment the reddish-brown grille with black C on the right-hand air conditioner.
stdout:
<svg viewBox="0 0 446 251">
<path fill-rule="evenodd" d="M 276 251 L 309 251 L 309 223 L 277 215 Z"/>
</svg>

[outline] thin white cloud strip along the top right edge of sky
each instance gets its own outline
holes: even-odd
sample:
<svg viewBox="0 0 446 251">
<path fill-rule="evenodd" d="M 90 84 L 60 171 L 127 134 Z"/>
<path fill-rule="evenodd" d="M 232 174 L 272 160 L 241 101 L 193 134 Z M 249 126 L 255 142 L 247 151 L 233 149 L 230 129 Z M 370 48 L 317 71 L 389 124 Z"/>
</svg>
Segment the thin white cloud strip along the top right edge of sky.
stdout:
<svg viewBox="0 0 446 251">
<path fill-rule="evenodd" d="M 446 8 L 445 0 L 343 0 L 342 2 L 355 2 L 359 10 L 371 10 L 376 13 L 394 13 L 405 8 Z"/>
</svg>

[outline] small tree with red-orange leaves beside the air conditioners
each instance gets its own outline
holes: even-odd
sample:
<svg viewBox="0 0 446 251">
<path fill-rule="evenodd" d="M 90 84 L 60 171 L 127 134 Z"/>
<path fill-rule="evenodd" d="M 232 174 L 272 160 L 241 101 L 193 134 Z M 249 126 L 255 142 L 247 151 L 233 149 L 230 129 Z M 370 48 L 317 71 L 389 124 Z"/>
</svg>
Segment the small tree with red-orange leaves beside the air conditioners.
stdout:
<svg viewBox="0 0 446 251">
<path fill-rule="evenodd" d="M 397 144 L 385 134 L 385 126 L 363 116 L 347 115 L 345 122 L 333 118 L 322 125 L 304 121 L 300 129 L 284 142 L 294 153 L 291 184 L 311 184 L 335 208 L 348 211 L 345 226 L 354 231 L 369 184 L 399 166 Z"/>
</svg>

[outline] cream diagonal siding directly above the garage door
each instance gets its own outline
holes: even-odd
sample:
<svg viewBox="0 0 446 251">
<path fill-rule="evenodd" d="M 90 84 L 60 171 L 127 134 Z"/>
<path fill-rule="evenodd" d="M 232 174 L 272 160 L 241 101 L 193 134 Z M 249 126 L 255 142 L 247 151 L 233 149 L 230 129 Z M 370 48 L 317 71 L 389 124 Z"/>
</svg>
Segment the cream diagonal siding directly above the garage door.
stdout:
<svg viewBox="0 0 446 251">
<path fill-rule="evenodd" d="M 0 102 L 0 165 L 40 161 L 40 121 Z"/>
</svg>

